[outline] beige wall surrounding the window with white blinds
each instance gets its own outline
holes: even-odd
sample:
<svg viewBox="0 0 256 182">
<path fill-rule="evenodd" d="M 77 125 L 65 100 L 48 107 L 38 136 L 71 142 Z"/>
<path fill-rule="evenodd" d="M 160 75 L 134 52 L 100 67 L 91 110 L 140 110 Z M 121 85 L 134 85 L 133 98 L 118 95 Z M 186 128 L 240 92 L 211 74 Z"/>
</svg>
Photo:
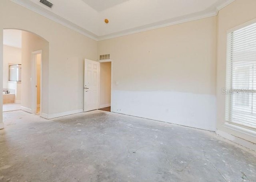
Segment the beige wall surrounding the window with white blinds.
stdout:
<svg viewBox="0 0 256 182">
<path fill-rule="evenodd" d="M 223 135 L 228 134 L 246 139 L 256 143 L 256 138 L 234 131 L 224 127 L 225 122 L 225 95 L 221 94 L 221 89 L 225 88 L 226 82 L 226 32 L 228 29 L 236 27 L 242 23 L 256 18 L 256 1 L 255 0 L 236 0 L 230 5 L 219 11 L 218 14 L 218 57 L 217 57 L 217 129 L 222 131 Z M 228 136 L 227 135 L 227 136 Z M 231 139 L 231 138 L 230 138 Z M 234 140 L 236 140 L 234 138 Z M 238 141 L 236 141 L 238 142 Z M 238 142 L 239 143 L 239 142 Z M 240 142 L 241 143 L 241 142 Z M 241 143 L 243 145 L 243 143 Z"/>
</svg>

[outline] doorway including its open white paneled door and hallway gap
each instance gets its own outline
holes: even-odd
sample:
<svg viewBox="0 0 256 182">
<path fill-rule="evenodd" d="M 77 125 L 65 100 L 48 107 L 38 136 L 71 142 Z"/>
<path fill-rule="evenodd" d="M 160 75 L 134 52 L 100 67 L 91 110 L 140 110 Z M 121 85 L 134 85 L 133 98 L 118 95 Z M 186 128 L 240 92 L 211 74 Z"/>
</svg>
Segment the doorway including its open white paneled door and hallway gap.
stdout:
<svg viewBox="0 0 256 182">
<path fill-rule="evenodd" d="M 111 59 L 84 60 L 84 112 L 98 109 L 111 112 L 112 67 Z"/>
</svg>

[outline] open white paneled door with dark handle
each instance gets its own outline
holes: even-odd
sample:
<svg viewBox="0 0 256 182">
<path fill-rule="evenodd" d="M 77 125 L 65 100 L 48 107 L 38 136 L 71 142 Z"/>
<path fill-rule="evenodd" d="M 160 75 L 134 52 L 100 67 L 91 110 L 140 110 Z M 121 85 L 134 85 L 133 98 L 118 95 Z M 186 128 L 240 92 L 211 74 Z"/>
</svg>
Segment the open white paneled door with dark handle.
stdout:
<svg viewBox="0 0 256 182">
<path fill-rule="evenodd" d="M 84 60 L 84 112 L 98 109 L 100 63 Z"/>
</svg>

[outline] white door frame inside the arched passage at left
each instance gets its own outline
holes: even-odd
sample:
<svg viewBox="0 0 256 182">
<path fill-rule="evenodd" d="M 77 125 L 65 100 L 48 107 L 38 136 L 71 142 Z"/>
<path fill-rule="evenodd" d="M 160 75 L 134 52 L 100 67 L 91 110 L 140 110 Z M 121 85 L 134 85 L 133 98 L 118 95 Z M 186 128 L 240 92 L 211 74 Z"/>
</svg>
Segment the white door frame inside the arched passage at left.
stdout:
<svg viewBox="0 0 256 182">
<path fill-rule="evenodd" d="M 43 51 L 33 51 L 32 52 L 32 61 L 31 61 L 31 90 L 32 90 L 32 114 L 36 114 L 37 110 L 37 87 L 36 87 L 36 80 L 37 80 L 37 68 L 36 68 L 36 55 L 41 54 L 41 68 L 40 68 L 40 116 L 42 113 L 42 58 L 43 58 Z"/>
</svg>

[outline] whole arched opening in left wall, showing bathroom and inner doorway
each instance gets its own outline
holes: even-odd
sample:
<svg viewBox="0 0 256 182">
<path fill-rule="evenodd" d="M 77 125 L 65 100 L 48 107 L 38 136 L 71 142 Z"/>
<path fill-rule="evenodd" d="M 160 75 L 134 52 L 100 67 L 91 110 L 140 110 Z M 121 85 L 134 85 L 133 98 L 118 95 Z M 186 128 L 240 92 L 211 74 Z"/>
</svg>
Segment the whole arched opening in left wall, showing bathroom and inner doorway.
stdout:
<svg viewBox="0 0 256 182">
<path fill-rule="evenodd" d="M 29 31 L 3 30 L 3 112 L 47 115 L 49 42 Z"/>
</svg>

